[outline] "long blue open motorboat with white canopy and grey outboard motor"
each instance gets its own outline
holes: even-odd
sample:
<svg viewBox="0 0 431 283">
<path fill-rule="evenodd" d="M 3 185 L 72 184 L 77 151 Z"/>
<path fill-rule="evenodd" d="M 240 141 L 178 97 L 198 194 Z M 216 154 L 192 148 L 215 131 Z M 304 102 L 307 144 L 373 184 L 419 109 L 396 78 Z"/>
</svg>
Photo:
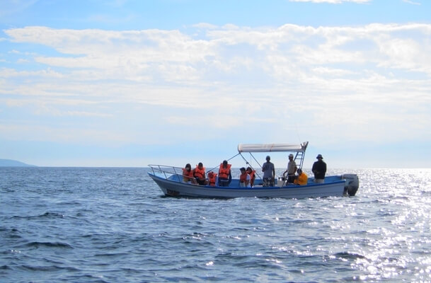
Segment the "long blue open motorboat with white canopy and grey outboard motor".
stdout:
<svg viewBox="0 0 431 283">
<path fill-rule="evenodd" d="M 249 166 L 244 153 L 251 154 L 257 152 L 289 152 L 294 154 L 294 161 L 297 168 L 302 168 L 305 151 L 309 142 L 301 144 L 239 144 L 238 154 Z M 233 156 L 232 158 L 236 157 Z M 231 158 L 229 158 L 231 160 Z M 295 185 L 287 183 L 285 178 L 279 177 L 275 180 L 275 185 L 271 187 L 263 186 L 263 180 L 256 171 L 256 180 L 253 187 L 241 187 L 239 178 L 232 179 L 229 187 L 219 185 L 197 185 L 183 181 L 183 168 L 176 166 L 149 165 L 148 175 L 159 185 L 161 191 L 166 196 L 171 197 L 209 197 L 209 198 L 235 198 L 235 197 L 284 197 L 284 198 L 306 198 L 306 197 L 342 197 L 354 196 L 359 188 L 359 178 L 356 174 L 329 175 L 325 177 L 324 183 L 314 183 L 314 178 L 308 178 L 306 185 Z M 218 168 L 207 171 L 216 170 Z M 260 166 L 261 168 L 261 166 Z"/>
</svg>

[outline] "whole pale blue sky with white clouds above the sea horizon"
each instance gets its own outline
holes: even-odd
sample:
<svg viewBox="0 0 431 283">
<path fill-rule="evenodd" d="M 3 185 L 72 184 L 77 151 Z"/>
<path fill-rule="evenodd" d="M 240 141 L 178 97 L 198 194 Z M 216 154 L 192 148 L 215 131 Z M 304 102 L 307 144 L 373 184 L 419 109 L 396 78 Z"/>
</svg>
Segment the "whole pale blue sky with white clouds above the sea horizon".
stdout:
<svg viewBox="0 0 431 283">
<path fill-rule="evenodd" d="M 0 158 L 431 168 L 431 1 L 2 0 Z M 287 154 L 271 154 L 277 168 Z M 264 156 L 257 158 L 262 163 Z M 233 166 L 243 166 L 232 159 Z"/>
</svg>

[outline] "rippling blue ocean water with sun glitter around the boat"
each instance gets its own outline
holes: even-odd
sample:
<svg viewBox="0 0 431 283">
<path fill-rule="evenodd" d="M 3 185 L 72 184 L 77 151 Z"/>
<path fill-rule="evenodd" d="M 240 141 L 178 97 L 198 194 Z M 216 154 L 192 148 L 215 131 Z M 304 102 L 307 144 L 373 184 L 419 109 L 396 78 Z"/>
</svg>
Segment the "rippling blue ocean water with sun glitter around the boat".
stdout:
<svg viewBox="0 0 431 283">
<path fill-rule="evenodd" d="M 431 282 L 431 169 L 330 170 L 357 195 L 302 200 L 164 197 L 147 171 L 0 168 L 0 282 Z"/>
</svg>

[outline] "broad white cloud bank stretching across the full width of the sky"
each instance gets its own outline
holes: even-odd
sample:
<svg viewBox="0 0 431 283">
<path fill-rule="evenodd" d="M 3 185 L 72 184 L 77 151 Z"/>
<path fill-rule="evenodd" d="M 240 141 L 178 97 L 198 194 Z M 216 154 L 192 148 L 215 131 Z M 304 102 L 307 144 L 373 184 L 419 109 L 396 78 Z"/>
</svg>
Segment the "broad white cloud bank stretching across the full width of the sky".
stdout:
<svg viewBox="0 0 431 283">
<path fill-rule="evenodd" d="M 340 129 L 348 140 L 431 138 L 431 25 L 195 29 L 4 30 L 20 63 L 0 69 L 3 112 L 113 125 L 101 134 L 113 143 L 206 139 L 207 129 L 287 140 L 297 125 L 333 142 Z"/>
</svg>

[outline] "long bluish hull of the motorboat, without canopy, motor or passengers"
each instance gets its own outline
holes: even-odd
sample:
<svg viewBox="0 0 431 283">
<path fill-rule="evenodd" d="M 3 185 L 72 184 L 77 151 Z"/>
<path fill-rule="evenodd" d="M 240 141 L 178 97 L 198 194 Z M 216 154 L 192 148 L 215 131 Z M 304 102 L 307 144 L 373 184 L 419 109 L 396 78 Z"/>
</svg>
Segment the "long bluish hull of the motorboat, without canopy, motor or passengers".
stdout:
<svg viewBox="0 0 431 283">
<path fill-rule="evenodd" d="M 331 182 L 309 185 L 288 185 L 285 187 L 212 187 L 209 185 L 192 185 L 178 180 L 169 180 L 163 176 L 149 173 L 149 176 L 161 188 L 164 195 L 173 197 L 342 197 L 345 180 L 340 176 L 331 176 Z"/>
</svg>

